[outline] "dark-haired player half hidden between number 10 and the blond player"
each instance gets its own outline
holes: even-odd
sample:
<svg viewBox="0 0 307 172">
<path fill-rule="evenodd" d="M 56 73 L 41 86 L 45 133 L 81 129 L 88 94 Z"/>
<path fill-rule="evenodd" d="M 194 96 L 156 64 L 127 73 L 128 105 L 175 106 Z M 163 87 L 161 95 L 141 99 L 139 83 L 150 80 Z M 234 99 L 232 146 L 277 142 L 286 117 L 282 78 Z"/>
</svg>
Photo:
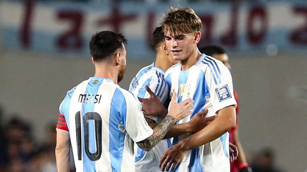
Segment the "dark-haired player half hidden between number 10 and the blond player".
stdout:
<svg viewBox="0 0 307 172">
<path fill-rule="evenodd" d="M 149 97 L 149 93 L 146 91 L 145 86 L 148 85 L 151 90 L 157 95 L 165 106 L 168 106 L 169 101 L 167 101 L 169 88 L 166 84 L 164 78 L 164 72 L 172 65 L 178 63 L 179 61 L 174 60 L 172 56 L 169 55 L 167 50 L 164 33 L 162 26 L 155 28 L 152 39 L 150 41 L 150 46 L 153 52 L 156 54 L 156 60 L 151 65 L 142 68 L 134 79 L 131 81 L 129 91 L 133 92 L 141 99 L 146 99 Z M 179 136 L 186 133 L 194 133 L 203 129 L 208 123 L 216 118 L 216 116 L 204 118 L 207 110 L 201 111 L 199 114 L 194 115 L 193 118 L 183 124 L 173 125 L 165 138 L 170 138 L 173 136 Z M 163 117 L 153 117 L 146 116 L 146 121 L 151 126 L 155 126 L 157 123 L 161 122 Z M 160 172 L 159 161 L 163 153 L 171 146 L 171 139 L 161 140 L 151 151 L 144 151 L 141 148 L 135 147 L 135 152 L 137 152 L 135 159 L 135 169 L 137 172 L 142 172 L 144 170 L 148 172 Z"/>
</svg>

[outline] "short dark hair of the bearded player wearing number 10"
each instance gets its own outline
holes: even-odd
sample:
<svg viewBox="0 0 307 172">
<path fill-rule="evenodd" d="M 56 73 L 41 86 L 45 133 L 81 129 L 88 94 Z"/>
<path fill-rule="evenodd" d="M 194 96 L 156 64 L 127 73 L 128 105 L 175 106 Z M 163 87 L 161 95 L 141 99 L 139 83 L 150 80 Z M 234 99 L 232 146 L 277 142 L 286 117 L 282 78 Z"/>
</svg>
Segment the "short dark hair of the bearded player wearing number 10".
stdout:
<svg viewBox="0 0 307 172">
<path fill-rule="evenodd" d="M 90 41 L 90 52 L 94 61 L 102 61 L 118 48 L 126 44 L 127 39 L 121 33 L 101 31 L 94 34 Z"/>
</svg>

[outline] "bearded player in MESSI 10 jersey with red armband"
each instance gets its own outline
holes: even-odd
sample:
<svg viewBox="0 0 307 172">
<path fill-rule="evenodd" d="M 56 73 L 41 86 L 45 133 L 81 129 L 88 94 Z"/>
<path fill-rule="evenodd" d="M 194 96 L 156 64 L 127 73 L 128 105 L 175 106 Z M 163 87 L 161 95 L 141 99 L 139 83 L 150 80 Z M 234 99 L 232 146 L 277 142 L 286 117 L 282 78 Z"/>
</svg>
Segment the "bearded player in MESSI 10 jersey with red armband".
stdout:
<svg viewBox="0 0 307 172">
<path fill-rule="evenodd" d="M 59 172 L 69 171 L 70 144 L 77 172 L 134 171 L 133 142 L 149 151 L 171 125 L 191 114 L 192 99 L 183 103 L 172 99 L 165 118 L 153 129 L 148 126 L 137 98 L 117 84 L 125 73 L 125 43 L 122 34 L 111 31 L 92 36 L 89 47 L 95 75 L 68 91 L 60 105 L 56 135 Z M 151 103 L 150 114 L 162 113 L 165 108 L 160 100 L 148 87 L 147 92 L 150 98 L 143 103 Z"/>
</svg>

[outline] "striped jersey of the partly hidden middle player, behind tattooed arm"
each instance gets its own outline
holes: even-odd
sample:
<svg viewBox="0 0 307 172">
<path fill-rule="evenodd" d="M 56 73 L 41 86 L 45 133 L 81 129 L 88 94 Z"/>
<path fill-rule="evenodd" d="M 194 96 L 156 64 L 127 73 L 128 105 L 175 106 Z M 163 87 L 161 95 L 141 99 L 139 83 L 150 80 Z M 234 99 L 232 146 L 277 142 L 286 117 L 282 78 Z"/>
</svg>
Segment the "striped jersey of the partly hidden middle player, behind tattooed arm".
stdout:
<svg viewBox="0 0 307 172">
<path fill-rule="evenodd" d="M 167 106 L 169 90 L 164 78 L 164 71 L 152 63 L 149 66 L 142 68 L 131 81 L 129 91 L 133 92 L 140 98 L 149 98 L 149 93 L 146 91 L 145 86 L 157 95 L 162 103 Z M 155 120 L 157 123 L 161 121 L 159 117 L 148 116 Z M 171 146 L 171 140 L 161 140 L 151 151 L 143 151 L 135 144 L 135 170 L 136 172 L 161 172 L 159 168 L 159 160 L 167 148 Z M 137 150 L 137 151 L 136 151 Z"/>
</svg>

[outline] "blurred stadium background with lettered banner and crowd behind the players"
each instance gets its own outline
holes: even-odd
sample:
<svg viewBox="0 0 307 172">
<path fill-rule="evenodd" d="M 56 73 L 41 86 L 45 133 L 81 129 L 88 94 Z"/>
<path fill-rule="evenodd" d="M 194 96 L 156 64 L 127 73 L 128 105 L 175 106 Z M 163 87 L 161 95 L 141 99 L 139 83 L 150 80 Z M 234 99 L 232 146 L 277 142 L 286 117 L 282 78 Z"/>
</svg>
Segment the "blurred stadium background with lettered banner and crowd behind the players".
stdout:
<svg viewBox="0 0 307 172">
<path fill-rule="evenodd" d="M 0 2 L 0 171 L 55 169 L 55 127 L 66 92 L 94 74 L 88 42 L 128 38 L 124 80 L 154 60 L 149 39 L 169 6 L 196 11 L 199 47 L 221 45 L 239 94 L 239 134 L 250 164 L 307 171 L 307 2 L 299 0 L 79 0 Z M 271 170 L 273 171 L 273 170 Z"/>
</svg>

